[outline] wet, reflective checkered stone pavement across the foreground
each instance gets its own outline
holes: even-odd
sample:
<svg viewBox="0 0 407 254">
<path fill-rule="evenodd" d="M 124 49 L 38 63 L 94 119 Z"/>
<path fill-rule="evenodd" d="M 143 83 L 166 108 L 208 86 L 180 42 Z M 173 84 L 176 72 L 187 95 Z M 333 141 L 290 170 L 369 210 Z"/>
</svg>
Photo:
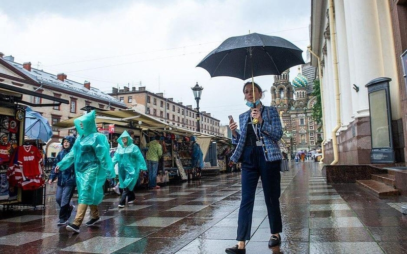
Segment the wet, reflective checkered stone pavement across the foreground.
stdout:
<svg viewBox="0 0 407 254">
<path fill-rule="evenodd" d="M 318 163 L 290 168 L 281 178 L 281 244 L 267 246 L 270 232 L 259 183 L 246 253 L 407 253 L 407 215 L 397 209 L 407 198 L 378 199 L 356 184 L 327 184 Z M 45 209 L 1 211 L 1 253 L 218 254 L 236 243 L 239 173 L 138 189 L 136 199 L 118 208 L 119 196 L 105 196 L 101 223 L 84 224 L 79 234 L 57 226 L 52 194 Z"/>
</svg>

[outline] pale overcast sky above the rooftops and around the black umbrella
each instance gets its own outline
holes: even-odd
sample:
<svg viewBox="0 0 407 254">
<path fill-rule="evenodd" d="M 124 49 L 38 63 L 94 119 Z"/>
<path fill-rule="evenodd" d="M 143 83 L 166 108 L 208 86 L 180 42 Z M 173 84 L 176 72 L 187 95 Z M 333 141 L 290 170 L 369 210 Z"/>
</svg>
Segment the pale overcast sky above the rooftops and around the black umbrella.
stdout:
<svg viewBox="0 0 407 254">
<path fill-rule="evenodd" d="M 309 44 L 309 0 L 0 0 L 0 52 L 105 92 L 124 85 L 164 92 L 196 106 L 191 87 L 204 87 L 200 110 L 228 123 L 248 108 L 243 81 L 210 78 L 196 65 L 232 36 L 279 36 Z M 297 74 L 291 69 L 290 80 Z M 267 90 L 273 76 L 255 78 Z"/>
</svg>

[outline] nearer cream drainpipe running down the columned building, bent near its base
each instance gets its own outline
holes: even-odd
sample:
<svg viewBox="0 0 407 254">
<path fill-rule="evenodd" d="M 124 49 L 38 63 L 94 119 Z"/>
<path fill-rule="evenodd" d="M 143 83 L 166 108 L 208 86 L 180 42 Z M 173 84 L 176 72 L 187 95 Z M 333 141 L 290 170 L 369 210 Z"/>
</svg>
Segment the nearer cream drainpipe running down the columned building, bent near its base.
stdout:
<svg viewBox="0 0 407 254">
<path fill-rule="evenodd" d="M 336 52 L 336 23 L 334 18 L 334 0 L 329 0 L 329 27 L 331 33 L 331 48 L 332 48 L 332 65 L 335 87 L 335 107 L 336 107 L 336 126 L 332 130 L 332 146 L 334 148 L 334 161 L 331 165 L 336 165 L 339 162 L 338 139 L 336 132 L 341 128 L 341 107 L 339 93 L 339 75 L 338 75 L 338 57 Z"/>
</svg>

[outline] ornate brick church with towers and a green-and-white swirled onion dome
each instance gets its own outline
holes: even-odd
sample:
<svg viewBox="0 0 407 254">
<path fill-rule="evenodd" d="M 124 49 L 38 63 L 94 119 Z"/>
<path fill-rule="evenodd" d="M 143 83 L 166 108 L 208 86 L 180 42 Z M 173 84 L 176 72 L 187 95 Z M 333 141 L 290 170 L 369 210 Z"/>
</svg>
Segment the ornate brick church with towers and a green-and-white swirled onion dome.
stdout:
<svg viewBox="0 0 407 254">
<path fill-rule="evenodd" d="M 304 74 L 307 75 L 305 77 Z M 312 107 L 316 98 L 311 96 L 315 68 L 303 65 L 301 72 L 292 80 L 290 71 L 274 76 L 271 90 L 272 106 L 277 108 L 283 126 L 280 147 L 293 155 L 299 151 L 312 151 L 320 148 L 322 131 L 312 117 Z M 310 79 L 310 81 L 309 81 Z"/>
</svg>

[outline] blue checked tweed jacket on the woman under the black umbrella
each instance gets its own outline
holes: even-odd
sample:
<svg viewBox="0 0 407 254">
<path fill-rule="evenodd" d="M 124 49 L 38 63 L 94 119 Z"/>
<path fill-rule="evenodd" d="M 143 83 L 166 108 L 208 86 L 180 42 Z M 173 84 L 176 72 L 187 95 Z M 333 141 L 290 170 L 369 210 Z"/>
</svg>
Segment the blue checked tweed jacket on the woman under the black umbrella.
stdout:
<svg viewBox="0 0 407 254">
<path fill-rule="evenodd" d="M 277 113 L 277 109 L 275 107 L 264 106 L 261 117 L 263 118 L 263 122 L 260 126 L 260 135 L 261 137 L 263 137 L 265 145 L 265 147 L 263 146 L 263 150 L 267 150 L 267 152 L 264 152 L 264 157 L 267 162 L 282 160 L 278 141 L 283 136 L 283 131 L 281 129 L 281 122 L 280 117 Z M 232 143 L 237 144 L 237 146 L 232 156 L 230 157 L 230 160 L 235 163 L 239 162 L 240 156 L 243 152 L 243 148 L 245 147 L 249 119 L 250 110 L 239 115 L 239 128 L 241 133 L 237 133 L 236 138 L 232 136 Z"/>
</svg>

